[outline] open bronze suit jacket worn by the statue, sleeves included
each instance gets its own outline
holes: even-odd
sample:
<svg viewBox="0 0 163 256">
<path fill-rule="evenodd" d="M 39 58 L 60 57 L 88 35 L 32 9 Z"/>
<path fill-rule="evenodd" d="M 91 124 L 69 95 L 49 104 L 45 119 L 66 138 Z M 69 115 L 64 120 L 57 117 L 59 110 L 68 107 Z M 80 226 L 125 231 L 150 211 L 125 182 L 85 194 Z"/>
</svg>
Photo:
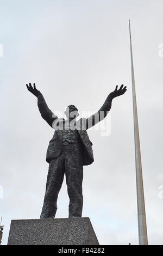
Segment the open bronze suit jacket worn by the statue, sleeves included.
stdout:
<svg viewBox="0 0 163 256">
<path fill-rule="evenodd" d="M 37 105 L 39 107 L 39 111 L 41 113 L 41 116 L 43 119 L 47 121 L 47 123 L 53 127 L 53 122 L 56 120 L 59 120 L 57 115 L 55 115 L 51 109 L 48 108 L 47 103 L 43 97 L 43 95 L 40 93 L 37 97 Z M 92 151 L 92 142 L 89 139 L 89 136 L 87 135 L 87 129 L 92 127 L 93 125 L 97 124 L 99 121 L 103 120 L 106 117 L 106 114 L 108 114 L 109 110 L 111 108 L 111 100 L 108 96 L 103 104 L 103 106 L 99 109 L 99 111 L 95 114 L 93 114 L 89 118 L 81 118 L 76 121 L 78 132 L 80 139 L 82 141 L 83 145 L 83 165 L 89 165 L 91 164 L 93 159 L 93 151 Z M 103 112 L 101 118 L 99 117 L 99 113 Z M 64 119 L 62 121 L 65 121 Z M 47 155 L 46 155 L 46 161 L 49 163 L 52 159 L 55 159 L 55 157 L 58 157 L 62 150 L 62 141 L 59 136 L 59 130 L 56 130 L 54 132 L 53 138 L 49 142 L 49 146 L 47 149 Z"/>
</svg>

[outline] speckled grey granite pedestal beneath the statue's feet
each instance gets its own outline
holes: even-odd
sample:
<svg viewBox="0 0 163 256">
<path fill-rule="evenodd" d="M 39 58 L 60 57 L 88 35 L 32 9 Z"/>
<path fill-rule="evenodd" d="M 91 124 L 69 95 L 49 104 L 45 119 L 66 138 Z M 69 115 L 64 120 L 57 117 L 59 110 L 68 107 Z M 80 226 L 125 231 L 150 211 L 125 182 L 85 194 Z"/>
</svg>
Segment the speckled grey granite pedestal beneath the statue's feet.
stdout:
<svg viewBox="0 0 163 256">
<path fill-rule="evenodd" d="M 12 220 L 8 245 L 99 245 L 89 218 Z"/>
</svg>

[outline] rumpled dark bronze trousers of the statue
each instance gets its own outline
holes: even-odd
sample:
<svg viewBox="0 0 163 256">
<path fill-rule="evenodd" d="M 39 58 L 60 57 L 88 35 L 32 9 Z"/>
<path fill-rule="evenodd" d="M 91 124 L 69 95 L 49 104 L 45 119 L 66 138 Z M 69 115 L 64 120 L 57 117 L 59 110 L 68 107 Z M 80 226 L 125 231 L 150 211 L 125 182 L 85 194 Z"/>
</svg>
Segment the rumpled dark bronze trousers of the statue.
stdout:
<svg viewBox="0 0 163 256">
<path fill-rule="evenodd" d="M 66 176 L 67 192 L 70 198 L 68 217 L 82 217 L 83 209 L 83 153 L 71 144 L 49 162 L 46 192 L 40 218 L 54 218 L 57 211 L 58 194 Z"/>
</svg>

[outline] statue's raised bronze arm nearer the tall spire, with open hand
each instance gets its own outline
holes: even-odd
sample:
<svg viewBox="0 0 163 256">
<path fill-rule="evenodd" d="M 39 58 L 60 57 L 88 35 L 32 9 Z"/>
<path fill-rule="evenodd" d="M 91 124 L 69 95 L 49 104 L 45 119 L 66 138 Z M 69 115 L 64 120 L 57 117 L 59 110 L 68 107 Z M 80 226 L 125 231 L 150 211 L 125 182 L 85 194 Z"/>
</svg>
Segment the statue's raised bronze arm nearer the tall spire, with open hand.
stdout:
<svg viewBox="0 0 163 256">
<path fill-rule="evenodd" d="M 126 86 L 123 87 L 123 84 L 120 87 L 120 89 L 118 89 L 118 86 L 116 86 L 114 92 L 111 92 L 108 95 L 103 106 L 99 109 L 99 111 L 97 111 L 95 114 L 91 115 L 91 117 L 86 119 L 86 129 L 89 129 L 90 127 L 96 125 L 99 121 L 102 121 L 110 111 L 112 100 L 115 97 L 124 94 L 126 90 Z"/>
</svg>

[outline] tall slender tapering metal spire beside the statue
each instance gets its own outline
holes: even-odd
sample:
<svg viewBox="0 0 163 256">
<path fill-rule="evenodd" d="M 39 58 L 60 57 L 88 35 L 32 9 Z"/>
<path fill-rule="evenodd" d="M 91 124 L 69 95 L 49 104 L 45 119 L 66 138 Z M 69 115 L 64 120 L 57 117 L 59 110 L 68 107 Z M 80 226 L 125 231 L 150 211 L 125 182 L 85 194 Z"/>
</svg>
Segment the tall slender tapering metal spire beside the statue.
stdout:
<svg viewBox="0 0 163 256">
<path fill-rule="evenodd" d="M 129 31 L 130 31 L 130 20 L 129 20 Z M 138 229 L 139 229 L 139 245 L 148 245 L 145 198 L 144 198 L 144 192 L 143 192 L 143 178 L 142 178 L 141 153 L 140 153 L 140 141 L 139 141 L 139 125 L 138 125 L 138 118 L 137 118 L 137 105 L 136 105 L 136 93 L 135 93 L 133 51 L 132 51 L 132 45 L 131 45 L 131 31 L 130 31 L 130 52 L 131 52 L 131 77 L 132 77 L 132 89 L 133 89 L 134 139 L 135 139 L 135 165 L 136 165 L 137 217 L 138 217 Z"/>
</svg>

